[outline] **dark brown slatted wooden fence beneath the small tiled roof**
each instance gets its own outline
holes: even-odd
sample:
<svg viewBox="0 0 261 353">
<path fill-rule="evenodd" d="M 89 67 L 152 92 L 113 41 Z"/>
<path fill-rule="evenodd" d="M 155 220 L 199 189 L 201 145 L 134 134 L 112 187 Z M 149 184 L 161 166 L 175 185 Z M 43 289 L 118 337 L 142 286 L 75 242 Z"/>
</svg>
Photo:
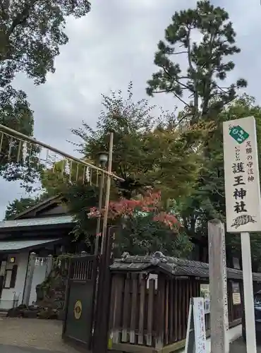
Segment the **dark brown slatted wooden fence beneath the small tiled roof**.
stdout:
<svg viewBox="0 0 261 353">
<path fill-rule="evenodd" d="M 239 279 L 234 281 L 239 283 L 241 303 L 233 305 L 232 281 L 228 280 L 230 326 L 241 323 L 243 313 L 243 283 Z M 110 348 L 145 353 L 157 352 L 162 347 L 169 347 L 166 352 L 183 347 L 190 297 L 200 297 L 201 283 L 208 283 L 208 279 L 169 277 L 164 273 L 159 273 L 157 279 L 150 279 L 147 273 L 114 273 L 109 318 Z M 205 319 L 208 331 L 210 314 Z"/>
</svg>

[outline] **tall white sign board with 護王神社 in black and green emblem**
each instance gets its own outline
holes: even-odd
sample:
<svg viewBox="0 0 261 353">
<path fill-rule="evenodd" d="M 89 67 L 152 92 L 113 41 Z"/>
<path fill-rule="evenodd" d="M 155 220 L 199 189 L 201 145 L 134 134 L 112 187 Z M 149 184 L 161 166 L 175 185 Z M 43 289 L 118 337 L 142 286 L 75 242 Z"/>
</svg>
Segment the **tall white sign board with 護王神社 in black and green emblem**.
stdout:
<svg viewBox="0 0 261 353">
<path fill-rule="evenodd" d="M 225 121 L 224 172 L 227 232 L 260 232 L 261 203 L 255 118 Z"/>
</svg>

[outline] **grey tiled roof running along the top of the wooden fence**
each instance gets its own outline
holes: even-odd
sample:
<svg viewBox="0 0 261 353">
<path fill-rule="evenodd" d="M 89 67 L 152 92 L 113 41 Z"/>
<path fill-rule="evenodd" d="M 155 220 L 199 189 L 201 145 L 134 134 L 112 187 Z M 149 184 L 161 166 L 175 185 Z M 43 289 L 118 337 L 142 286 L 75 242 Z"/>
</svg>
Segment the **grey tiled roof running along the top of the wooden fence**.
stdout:
<svg viewBox="0 0 261 353">
<path fill-rule="evenodd" d="M 208 263 L 172 258 L 169 256 L 128 256 L 117 258 L 111 265 L 113 271 L 152 272 L 158 269 L 174 276 L 209 277 Z M 227 268 L 228 279 L 243 279 L 241 270 Z M 261 282 L 261 273 L 253 273 L 253 280 Z"/>
</svg>

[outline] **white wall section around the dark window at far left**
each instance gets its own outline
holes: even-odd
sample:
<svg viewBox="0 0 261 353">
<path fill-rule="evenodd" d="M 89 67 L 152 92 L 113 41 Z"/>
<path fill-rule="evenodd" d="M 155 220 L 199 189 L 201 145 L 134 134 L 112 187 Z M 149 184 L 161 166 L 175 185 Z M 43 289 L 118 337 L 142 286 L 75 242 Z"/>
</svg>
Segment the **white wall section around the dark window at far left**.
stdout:
<svg viewBox="0 0 261 353">
<path fill-rule="evenodd" d="M 11 309 L 13 306 L 14 292 L 16 292 L 16 296 L 19 297 L 18 305 L 21 304 L 23 300 L 23 289 L 25 286 L 25 275 L 28 268 L 29 253 L 10 254 L 8 258 L 11 256 L 16 258 L 16 265 L 18 265 L 16 286 L 11 289 L 3 289 L 0 301 L 0 309 Z"/>
</svg>

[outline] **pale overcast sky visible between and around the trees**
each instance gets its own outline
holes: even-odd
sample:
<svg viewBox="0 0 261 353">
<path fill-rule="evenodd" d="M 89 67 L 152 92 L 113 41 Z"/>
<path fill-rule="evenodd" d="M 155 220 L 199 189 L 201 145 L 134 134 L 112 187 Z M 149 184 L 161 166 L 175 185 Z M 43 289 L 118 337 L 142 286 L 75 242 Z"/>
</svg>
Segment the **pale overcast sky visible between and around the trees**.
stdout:
<svg viewBox="0 0 261 353">
<path fill-rule="evenodd" d="M 181 8 L 194 6 L 195 0 L 95 0 L 90 13 L 68 19 L 69 42 L 61 47 L 56 59 L 56 73 L 47 83 L 35 87 L 18 76 L 16 88 L 25 90 L 35 112 L 35 137 L 66 152 L 73 146 L 71 128 L 82 121 L 95 126 L 101 107 L 101 93 L 126 91 L 133 80 L 135 97 L 146 97 L 146 81 L 155 71 L 153 64 L 157 42 L 164 39 L 164 29 L 171 16 Z M 246 92 L 261 103 L 261 6 L 260 0 L 214 0 L 225 6 L 237 32 L 241 54 L 233 59 L 236 69 L 230 78 L 248 80 Z M 176 100 L 157 95 L 153 104 L 171 109 Z M 0 218 L 8 201 L 20 198 L 19 186 L 0 183 Z"/>
</svg>

